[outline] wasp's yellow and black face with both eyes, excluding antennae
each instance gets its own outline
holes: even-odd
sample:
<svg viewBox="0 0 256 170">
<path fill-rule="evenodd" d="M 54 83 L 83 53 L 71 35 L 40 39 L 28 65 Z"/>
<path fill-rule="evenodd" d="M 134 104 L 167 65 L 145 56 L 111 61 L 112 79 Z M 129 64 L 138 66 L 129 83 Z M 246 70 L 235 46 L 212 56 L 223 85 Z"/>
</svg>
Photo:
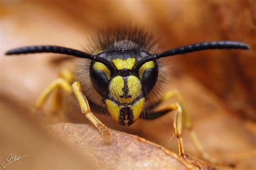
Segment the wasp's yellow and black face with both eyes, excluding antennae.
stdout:
<svg viewBox="0 0 256 170">
<path fill-rule="evenodd" d="M 146 52 L 139 52 L 147 55 Z M 103 97 L 107 110 L 119 124 L 127 126 L 134 123 L 143 111 L 147 93 L 156 84 L 158 66 L 156 61 L 150 61 L 136 69 L 139 57 L 123 50 L 117 57 L 108 57 L 113 52 L 102 52 L 98 56 L 112 58 L 114 69 L 109 69 L 102 63 L 91 62 L 90 78 L 95 90 Z M 122 59 L 121 59 L 122 58 Z"/>
</svg>

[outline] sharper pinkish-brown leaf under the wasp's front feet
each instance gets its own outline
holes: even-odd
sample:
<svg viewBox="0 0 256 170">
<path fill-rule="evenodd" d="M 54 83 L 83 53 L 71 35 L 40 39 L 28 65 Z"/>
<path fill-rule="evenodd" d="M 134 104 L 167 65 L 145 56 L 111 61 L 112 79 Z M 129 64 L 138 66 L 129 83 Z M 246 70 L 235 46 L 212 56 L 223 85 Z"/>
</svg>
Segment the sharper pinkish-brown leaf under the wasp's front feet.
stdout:
<svg viewBox="0 0 256 170">
<path fill-rule="evenodd" d="M 177 154 L 136 135 L 111 130 L 111 142 L 106 144 L 96 128 L 89 125 L 55 124 L 49 130 L 106 169 L 187 169 L 189 166 Z"/>
</svg>

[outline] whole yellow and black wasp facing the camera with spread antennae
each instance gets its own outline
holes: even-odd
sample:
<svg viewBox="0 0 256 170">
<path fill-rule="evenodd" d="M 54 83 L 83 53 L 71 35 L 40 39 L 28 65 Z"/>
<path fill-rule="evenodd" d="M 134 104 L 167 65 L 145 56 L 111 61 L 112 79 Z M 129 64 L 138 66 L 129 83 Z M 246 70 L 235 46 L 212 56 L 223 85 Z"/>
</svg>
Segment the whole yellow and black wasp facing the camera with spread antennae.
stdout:
<svg viewBox="0 0 256 170">
<path fill-rule="evenodd" d="M 45 100 L 56 89 L 75 94 L 82 113 L 99 130 L 106 141 L 110 130 L 100 122 L 92 110 L 107 112 L 122 126 L 132 125 L 137 119 L 156 119 L 176 111 L 174 135 L 178 139 L 179 155 L 185 157 L 182 133 L 182 118 L 191 134 L 192 141 L 202 157 L 210 160 L 193 131 L 190 115 L 187 113 L 178 91 L 165 92 L 165 68 L 161 58 L 181 55 L 200 50 L 248 49 L 248 45 L 233 41 L 213 41 L 177 47 L 155 53 L 157 40 L 152 34 L 133 29 L 113 29 L 98 33 L 92 38 L 88 53 L 62 46 L 39 45 L 12 49 L 6 55 L 51 52 L 80 58 L 74 73 L 64 71 L 54 80 L 36 101 L 36 108 L 42 108 Z M 153 108 L 172 97 L 179 103 L 153 112 Z"/>
</svg>

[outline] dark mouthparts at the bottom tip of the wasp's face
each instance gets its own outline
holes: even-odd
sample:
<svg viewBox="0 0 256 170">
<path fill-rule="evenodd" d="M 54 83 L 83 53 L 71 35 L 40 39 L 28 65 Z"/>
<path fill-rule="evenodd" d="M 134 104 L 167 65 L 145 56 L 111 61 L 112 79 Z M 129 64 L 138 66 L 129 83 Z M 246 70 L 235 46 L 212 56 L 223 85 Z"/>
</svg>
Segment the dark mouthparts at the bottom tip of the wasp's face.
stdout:
<svg viewBox="0 0 256 170">
<path fill-rule="evenodd" d="M 119 124 L 129 126 L 133 124 L 133 114 L 130 106 L 122 107 L 119 114 Z"/>
</svg>

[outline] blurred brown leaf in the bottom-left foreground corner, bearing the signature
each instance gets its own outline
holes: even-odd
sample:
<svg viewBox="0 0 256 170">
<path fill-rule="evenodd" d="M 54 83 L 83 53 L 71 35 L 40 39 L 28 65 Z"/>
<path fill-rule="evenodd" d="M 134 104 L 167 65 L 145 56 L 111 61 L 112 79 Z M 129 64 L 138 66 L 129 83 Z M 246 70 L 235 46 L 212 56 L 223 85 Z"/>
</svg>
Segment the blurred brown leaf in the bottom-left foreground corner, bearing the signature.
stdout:
<svg viewBox="0 0 256 170">
<path fill-rule="evenodd" d="M 28 156 L 18 162 L 13 162 L 4 169 L 99 168 L 89 154 L 79 153 L 69 145 L 51 137 L 42 127 L 38 126 L 35 119 L 25 119 L 21 114 L 17 114 L 22 110 L 14 106 L 0 102 L 0 162 L 2 164 L 10 153 Z"/>
</svg>

